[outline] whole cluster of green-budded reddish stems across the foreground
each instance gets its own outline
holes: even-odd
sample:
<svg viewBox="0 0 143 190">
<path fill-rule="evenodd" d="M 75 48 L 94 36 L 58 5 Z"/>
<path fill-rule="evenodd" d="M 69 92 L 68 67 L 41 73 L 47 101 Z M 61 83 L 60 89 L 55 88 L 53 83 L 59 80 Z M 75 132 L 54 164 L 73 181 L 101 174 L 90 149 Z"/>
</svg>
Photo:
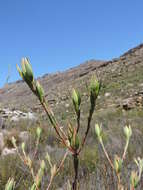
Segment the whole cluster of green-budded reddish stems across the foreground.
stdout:
<svg viewBox="0 0 143 190">
<path fill-rule="evenodd" d="M 72 159 L 73 159 L 74 176 L 73 176 L 72 183 L 70 181 L 68 181 L 67 189 L 68 190 L 78 190 L 79 189 L 79 176 L 78 176 L 79 155 L 84 148 L 89 130 L 91 128 L 91 120 L 92 120 L 93 113 L 95 110 L 96 100 L 97 100 L 97 97 L 100 92 L 101 82 L 99 82 L 97 80 L 96 76 L 93 76 L 90 81 L 90 84 L 88 87 L 89 99 L 90 99 L 89 114 L 88 114 L 88 118 L 87 118 L 87 125 L 86 125 L 85 133 L 81 137 L 80 136 L 80 130 L 81 130 L 81 122 L 80 121 L 81 121 L 81 101 L 82 100 L 81 100 L 81 95 L 80 95 L 79 91 L 76 89 L 73 89 L 73 91 L 72 91 L 72 103 L 73 103 L 75 114 L 76 114 L 76 125 L 73 125 L 72 123 L 69 122 L 68 126 L 66 128 L 63 128 L 60 126 L 60 124 L 56 120 L 55 115 L 54 115 L 49 103 L 47 102 L 47 100 L 45 98 L 45 93 L 44 93 L 43 87 L 41 86 L 41 84 L 39 83 L 38 80 L 35 80 L 34 74 L 32 71 L 32 67 L 27 58 L 22 59 L 21 68 L 22 69 L 20 69 L 17 66 L 20 76 L 26 82 L 26 84 L 29 86 L 31 91 L 39 99 L 40 104 L 42 105 L 43 109 L 45 110 L 45 112 L 50 120 L 50 123 L 56 132 L 56 136 L 57 136 L 59 142 L 62 144 L 62 146 L 65 147 L 65 150 L 66 150 L 65 154 L 58 166 L 57 166 L 57 164 L 53 164 L 51 161 L 50 155 L 48 153 L 46 154 L 45 159 L 48 161 L 49 166 L 51 168 L 51 177 L 50 177 L 50 180 L 49 180 L 46 190 L 49 190 L 51 188 L 51 184 L 53 182 L 54 177 L 61 170 L 62 166 L 64 165 L 64 161 L 69 153 L 72 155 Z M 22 154 L 21 154 L 16 145 L 15 138 L 14 137 L 12 138 L 12 143 L 13 143 L 14 147 L 16 148 L 20 159 L 29 168 L 29 170 L 31 172 L 31 176 L 33 178 L 33 184 L 29 188 L 30 190 L 39 190 L 40 189 L 41 182 L 42 182 L 44 172 L 46 169 L 46 162 L 44 159 L 40 162 L 41 163 L 40 168 L 38 169 L 38 171 L 36 173 L 34 173 L 34 169 L 33 169 L 33 160 L 34 160 L 37 150 L 38 150 L 41 132 L 42 132 L 41 128 L 38 127 L 37 131 L 36 131 L 37 143 L 36 143 L 35 151 L 34 151 L 32 158 L 29 155 L 27 155 L 27 153 L 25 151 L 25 144 L 24 143 L 21 144 L 21 149 L 22 149 Z M 102 132 L 103 131 L 102 131 L 101 125 L 96 124 L 95 125 L 95 133 L 98 137 L 98 141 L 103 149 L 103 152 L 105 154 L 105 157 L 107 158 L 107 161 L 110 164 L 110 167 L 112 168 L 112 170 L 115 172 L 115 174 L 117 176 L 117 189 L 118 190 L 126 190 L 127 187 L 125 187 L 121 181 L 121 171 L 123 168 L 123 162 L 126 158 L 129 141 L 130 141 L 130 138 L 132 135 L 131 127 L 126 126 L 124 128 L 124 134 L 126 137 L 124 151 L 123 151 L 122 156 L 115 155 L 114 161 L 111 160 L 111 158 L 104 146 Z M 141 174 L 143 171 L 143 159 L 137 158 L 137 159 L 135 159 L 135 163 L 138 167 L 138 171 L 131 172 L 130 190 L 134 190 L 138 186 L 138 184 L 141 180 Z M 9 181 L 5 187 L 5 190 L 12 190 L 12 189 L 14 189 L 14 186 L 15 186 L 14 179 L 13 178 L 9 179 Z"/>
</svg>

